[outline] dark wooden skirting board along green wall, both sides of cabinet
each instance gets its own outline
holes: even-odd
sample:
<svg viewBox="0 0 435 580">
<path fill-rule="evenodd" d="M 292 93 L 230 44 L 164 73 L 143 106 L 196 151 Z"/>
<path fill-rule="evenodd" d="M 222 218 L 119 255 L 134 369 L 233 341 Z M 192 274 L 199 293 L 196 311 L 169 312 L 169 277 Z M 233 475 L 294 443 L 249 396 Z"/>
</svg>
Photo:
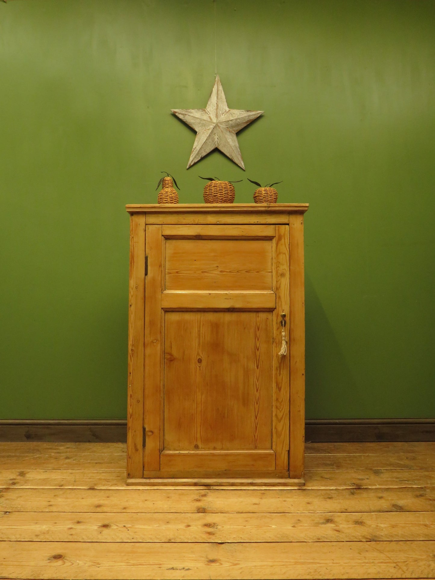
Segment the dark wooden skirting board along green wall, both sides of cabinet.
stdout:
<svg viewBox="0 0 435 580">
<path fill-rule="evenodd" d="M 435 441 L 435 419 L 307 419 L 306 441 Z M 0 420 L 0 441 L 125 443 L 126 420 Z"/>
</svg>

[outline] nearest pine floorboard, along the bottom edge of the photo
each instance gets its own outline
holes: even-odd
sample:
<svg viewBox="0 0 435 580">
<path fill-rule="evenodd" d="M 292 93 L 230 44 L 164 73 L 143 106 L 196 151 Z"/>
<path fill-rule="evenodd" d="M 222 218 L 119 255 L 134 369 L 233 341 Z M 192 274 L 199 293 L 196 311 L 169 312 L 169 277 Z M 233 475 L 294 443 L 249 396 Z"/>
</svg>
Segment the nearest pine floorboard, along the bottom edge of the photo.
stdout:
<svg viewBox="0 0 435 580">
<path fill-rule="evenodd" d="M 432 578 L 435 542 L 2 542 L 3 578 Z"/>
</svg>

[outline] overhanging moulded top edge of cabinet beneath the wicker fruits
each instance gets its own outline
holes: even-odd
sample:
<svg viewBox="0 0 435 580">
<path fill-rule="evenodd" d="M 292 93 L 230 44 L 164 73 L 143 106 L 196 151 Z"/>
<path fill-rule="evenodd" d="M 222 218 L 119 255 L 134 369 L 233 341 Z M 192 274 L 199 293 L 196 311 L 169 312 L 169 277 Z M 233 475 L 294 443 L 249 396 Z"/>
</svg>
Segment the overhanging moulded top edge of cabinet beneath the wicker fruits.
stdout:
<svg viewBox="0 0 435 580">
<path fill-rule="evenodd" d="M 130 204 L 128 213 L 305 213 L 309 204 Z"/>
</svg>

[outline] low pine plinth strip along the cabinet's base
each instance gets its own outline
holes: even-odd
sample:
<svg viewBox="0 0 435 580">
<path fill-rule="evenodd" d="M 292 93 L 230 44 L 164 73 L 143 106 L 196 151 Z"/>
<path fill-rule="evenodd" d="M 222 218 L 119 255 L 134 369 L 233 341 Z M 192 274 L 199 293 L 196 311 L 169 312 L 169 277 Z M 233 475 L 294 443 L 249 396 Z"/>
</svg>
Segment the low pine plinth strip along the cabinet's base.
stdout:
<svg viewBox="0 0 435 580">
<path fill-rule="evenodd" d="M 305 485 L 305 479 L 267 479 L 267 478 L 173 478 L 173 477 L 143 477 L 127 480 L 127 485 L 157 485 L 164 487 L 173 485 L 176 487 L 300 487 Z"/>
</svg>

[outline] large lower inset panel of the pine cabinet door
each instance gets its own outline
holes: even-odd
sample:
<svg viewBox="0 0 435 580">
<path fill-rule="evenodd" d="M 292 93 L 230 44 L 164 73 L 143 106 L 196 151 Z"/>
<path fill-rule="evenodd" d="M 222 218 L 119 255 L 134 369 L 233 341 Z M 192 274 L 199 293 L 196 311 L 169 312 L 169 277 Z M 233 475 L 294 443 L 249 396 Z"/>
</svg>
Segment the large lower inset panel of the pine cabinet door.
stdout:
<svg viewBox="0 0 435 580">
<path fill-rule="evenodd" d="M 165 449 L 271 449 L 271 314 L 168 312 L 165 324 Z"/>
</svg>

